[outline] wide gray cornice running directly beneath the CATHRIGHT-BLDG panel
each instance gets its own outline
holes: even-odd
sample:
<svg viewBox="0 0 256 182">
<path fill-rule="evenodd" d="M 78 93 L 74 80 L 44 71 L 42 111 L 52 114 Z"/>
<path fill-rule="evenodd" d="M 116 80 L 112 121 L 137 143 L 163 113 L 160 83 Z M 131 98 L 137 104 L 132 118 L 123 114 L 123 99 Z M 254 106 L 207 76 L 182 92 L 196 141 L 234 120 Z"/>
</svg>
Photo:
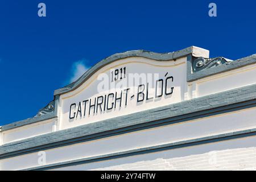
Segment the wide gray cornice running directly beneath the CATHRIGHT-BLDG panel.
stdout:
<svg viewBox="0 0 256 182">
<path fill-rule="evenodd" d="M 72 144 L 88 139 L 93 140 L 97 139 L 97 137 L 116 135 L 122 131 L 127 133 L 135 129 L 142 130 L 148 126 L 156 127 L 161 123 L 170 125 L 175 122 L 183 122 L 184 120 L 182 119 L 185 118 L 202 117 L 204 114 L 217 111 L 225 113 L 228 109 L 242 109 L 243 106 L 255 107 L 255 105 L 256 84 L 6 143 L 0 146 L 0 158 L 24 154 L 24 152 L 42 150 L 42 148 L 47 147 Z"/>
</svg>

